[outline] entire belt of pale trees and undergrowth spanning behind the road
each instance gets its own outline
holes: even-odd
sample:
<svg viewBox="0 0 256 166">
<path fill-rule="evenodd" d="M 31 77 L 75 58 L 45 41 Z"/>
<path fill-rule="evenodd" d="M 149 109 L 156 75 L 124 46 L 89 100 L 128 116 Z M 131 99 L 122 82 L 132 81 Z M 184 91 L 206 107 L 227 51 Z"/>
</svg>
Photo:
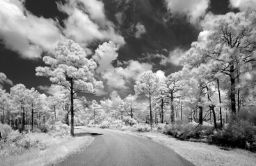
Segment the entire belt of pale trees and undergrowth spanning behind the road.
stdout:
<svg viewBox="0 0 256 166">
<path fill-rule="evenodd" d="M 35 68 L 35 75 L 49 79 L 58 94 L 45 95 L 24 84 L 0 89 L 1 123 L 26 133 L 62 122 L 70 126 L 71 136 L 79 125 L 130 126 L 256 151 L 255 14 L 247 10 L 218 16 L 211 30 L 202 31 L 179 57 L 182 70 L 170 75 L 145 71 L 125 98 L 113 91 L 110 98 L 86 100 L 103 89 L 97 59 L 107 49 L 118 52 L 113 43 L 102 44 L 106 51 L 95 50 L 98 56 L 89 58 L 79 44 L 65 39 L 53 55 L 42 58 L 45 66 Z M 12 82 L 0 73 L 0 84 Z"/>
</svg>

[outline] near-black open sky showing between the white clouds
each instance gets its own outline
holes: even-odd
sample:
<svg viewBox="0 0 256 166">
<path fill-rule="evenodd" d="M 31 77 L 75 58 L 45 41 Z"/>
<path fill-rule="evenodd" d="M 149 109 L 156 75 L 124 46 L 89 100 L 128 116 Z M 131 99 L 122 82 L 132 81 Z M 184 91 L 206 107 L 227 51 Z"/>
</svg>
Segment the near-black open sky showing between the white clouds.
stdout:
<svg viewBox="0 0 256 166">
<path fill-rule="evenodd" d="M 118 60 L 120 61 L 133 59 L 140 63 L 152 64 L 152 71 L 161 69 L 168 75 L 179 70 L 181 66 L 175 66 L 172 63 L 161 66 L 160 59 L 148 56 L 159 54 L 168 57 L 170 51 L 175 48 L 187 50 L 191 42 L 198 39 L 200 28 L 191 24 L 186 15 L 174 16 L 168 12 L 163 0 L 103 0 L 103 3 L 106 19 L 111 21 L 115 31 L 125 39 L 126 44 L 118 50 Z M 211 0 L 207 12 L 223 15 L 230 11 L 228 5 L 228 0 Z M 24 6 L 36 17 L 57 20 L 60 31 L 65 28 L 63 22 L 69 15 L 58 10 L 56 1 L 26 0 Z M 116 19 L 118 12 L 122 13 L 122 24 L 118 23 Z M 133 30 L 137 23 L 143 24 L 146 29 L 146 33 L 140 38 L 134 37 Z M 6 46 L 1 31 L 0 39 L 0 72 L 5 73 L 10 80 L 13 80 L 14 84 L 22 83 L 27 88 L 37 88 L 39 85 L 49 86 L 49 80 L 35 76 L 35 67 L 44 65 L 42 59 L 22 58 L 20 53 L 11 50 L 10 46 Z M 95 40 L 88 44 L 88 48 L 94 52 L 97 45 L 103 42 L 103 39 Z M 10 88 L 8 85 L 4 87 L 7 90 Z"/>
</svg>

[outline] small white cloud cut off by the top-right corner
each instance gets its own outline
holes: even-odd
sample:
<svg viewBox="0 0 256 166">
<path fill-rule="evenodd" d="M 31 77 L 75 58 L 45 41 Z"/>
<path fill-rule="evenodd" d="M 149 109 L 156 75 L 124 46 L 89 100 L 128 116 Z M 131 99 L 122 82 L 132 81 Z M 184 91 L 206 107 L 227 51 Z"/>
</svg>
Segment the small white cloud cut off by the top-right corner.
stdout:
<svg viewBox="0 0 256 166">
<path fill-rule="evenodd" d="M 239 8 L 239 10 L 244 11 L 248 8 L 256 9 L 255 0 L 230 0 L 231 8 Z"/>
</svg>

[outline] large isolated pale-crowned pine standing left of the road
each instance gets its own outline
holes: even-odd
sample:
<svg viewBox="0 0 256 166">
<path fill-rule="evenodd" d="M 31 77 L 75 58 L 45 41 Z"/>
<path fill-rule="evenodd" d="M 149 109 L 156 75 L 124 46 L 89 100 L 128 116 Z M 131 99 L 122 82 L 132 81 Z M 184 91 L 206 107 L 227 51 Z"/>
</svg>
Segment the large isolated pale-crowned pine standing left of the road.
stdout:
<svg viewBox="0 0 256 166">
<path fill-rule="evenodd" d="M 74 94 L 95 93 L 103 88 L 102 82 L 94 77 L 97 65 L 93 59 L 87 59 L 79 44 L 70 39 L 59 42 L 54 55 L 42 60 L 49 66 L 35 68 L 36 75 L 49 77 L 51 82 L 70 91 L 70 134 L 74 136 Z"/>
</svg>

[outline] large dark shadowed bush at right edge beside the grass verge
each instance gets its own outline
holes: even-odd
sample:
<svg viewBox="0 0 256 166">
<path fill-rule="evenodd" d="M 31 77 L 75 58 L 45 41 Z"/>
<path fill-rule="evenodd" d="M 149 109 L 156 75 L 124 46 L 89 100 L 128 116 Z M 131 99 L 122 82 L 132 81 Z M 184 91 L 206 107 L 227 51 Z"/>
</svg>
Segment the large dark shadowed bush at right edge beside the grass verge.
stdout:
<svg viewBox="0 0 256 166">
<path fill-rule="evenodd" d="M 233 122 L 227 129 L 211 136 L 211 143 L 224 147 L 239 147 L 256 151 L 256 129 L 246 121 Z"/>
</svg>

